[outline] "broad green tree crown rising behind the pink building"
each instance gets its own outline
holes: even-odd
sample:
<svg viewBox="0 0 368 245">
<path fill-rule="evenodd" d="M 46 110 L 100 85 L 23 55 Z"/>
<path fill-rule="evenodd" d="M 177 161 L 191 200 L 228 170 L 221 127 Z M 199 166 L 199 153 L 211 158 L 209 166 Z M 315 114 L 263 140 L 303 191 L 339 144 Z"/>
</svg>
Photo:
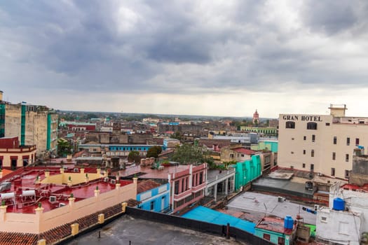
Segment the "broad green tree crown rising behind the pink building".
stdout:
<svg viewBox="0 0 368 245">
<path fill-rule="evenodd" d="M 213 159 L 210 157 L 209 151 L 201 146 L 194 146 L 191 144 L 183 144 L 182 146 L 177 146 L 174 155 L 172 155 L 171 160 L 175 162 L 180 162 L 182 164 L 191 163 L 211 163 Z"/>
</svg>

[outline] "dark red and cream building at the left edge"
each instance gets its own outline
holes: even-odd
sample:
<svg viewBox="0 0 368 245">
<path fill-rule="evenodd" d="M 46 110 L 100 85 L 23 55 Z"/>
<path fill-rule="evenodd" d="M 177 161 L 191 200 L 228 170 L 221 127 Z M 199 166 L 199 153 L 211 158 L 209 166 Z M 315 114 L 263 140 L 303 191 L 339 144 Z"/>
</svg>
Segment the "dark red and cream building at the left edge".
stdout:
<svg viewBox="0 0 368 245">
<path fill-rule="evenodd" d="M 36 146 L 20 146 L 18 137 L 0 138 L 0 168 L 17 169 L 34 162 Z"/>
</svg>

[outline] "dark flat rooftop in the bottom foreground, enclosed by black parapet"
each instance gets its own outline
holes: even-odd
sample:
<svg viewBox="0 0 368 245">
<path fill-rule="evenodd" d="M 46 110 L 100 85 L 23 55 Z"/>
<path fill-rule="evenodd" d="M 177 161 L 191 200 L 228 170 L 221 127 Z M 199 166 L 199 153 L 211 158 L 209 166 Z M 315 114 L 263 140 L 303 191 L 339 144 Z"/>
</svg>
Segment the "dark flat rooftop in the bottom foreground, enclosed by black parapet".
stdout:
<svg viewBox="0 0 368 245">
<path fill-rule="evenodd" d="M 78 237 L 68 244 L 222 244 L 239 245 L 245 244 L 233 239 L 218 237 L 202 232 L 177 228 L 173 225 L 165 225 L 153 221 L 146 221 L 132 216 L 125 215 L 116 221 L 109 223 L 100 230 L 101 238 L 98 238 L 99 230 L 89 232 L 86 235 Z"/>
</svg>

